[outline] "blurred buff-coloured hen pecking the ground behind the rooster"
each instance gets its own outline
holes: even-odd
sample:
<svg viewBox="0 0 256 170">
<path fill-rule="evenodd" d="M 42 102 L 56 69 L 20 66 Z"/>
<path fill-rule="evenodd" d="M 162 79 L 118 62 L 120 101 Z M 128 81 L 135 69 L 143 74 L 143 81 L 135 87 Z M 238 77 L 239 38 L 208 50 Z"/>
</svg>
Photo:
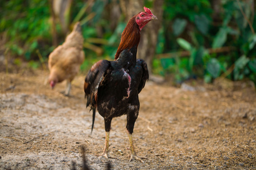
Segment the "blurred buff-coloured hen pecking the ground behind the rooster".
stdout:
<svg viewBox="0 0 256 170">
<path fill-rule="evenodd" d="M 84 62 L 83 43 L 84 38 L 81 34 L 81 26 L 77 22 L 65 42 L 49 54 L 48 66 L 50 75 L 48 83 L 53 88 L 56 83 L 67 80 L 66 96 L 69 95 L 71 82 L 79 72 L 80 65 Z"/>
</svg>

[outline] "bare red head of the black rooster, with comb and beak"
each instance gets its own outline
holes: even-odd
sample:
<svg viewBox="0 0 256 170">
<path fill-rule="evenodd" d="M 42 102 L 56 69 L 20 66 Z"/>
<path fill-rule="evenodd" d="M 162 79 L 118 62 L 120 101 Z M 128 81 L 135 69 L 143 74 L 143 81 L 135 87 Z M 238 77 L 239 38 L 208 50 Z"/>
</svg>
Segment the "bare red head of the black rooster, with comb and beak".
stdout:
<svg viewBox="0 0 256 170">
<path fill-rule="evenodd" d="M 155 15 L 152 14 L 149 8 L 144 7 L 144 12 L 139 12 L 135 20 L 139 25 L 139 30 L 141 30 L 148 22 L 153 19 L 158 19 Z"/>
</svg>

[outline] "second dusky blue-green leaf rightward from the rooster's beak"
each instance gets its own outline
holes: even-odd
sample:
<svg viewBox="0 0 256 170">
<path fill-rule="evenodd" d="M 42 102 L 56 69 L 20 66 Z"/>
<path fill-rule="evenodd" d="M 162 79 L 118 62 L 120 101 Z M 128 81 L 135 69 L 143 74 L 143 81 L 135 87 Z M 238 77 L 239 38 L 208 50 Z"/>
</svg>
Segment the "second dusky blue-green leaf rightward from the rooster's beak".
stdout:
<svg viewBox="0 0 256 170">
<path fill-rule="evenodd" d="M 209 30 L 209 20 L 208 18 L 204 15 L 195 15 L 195 24 L 197 29 L 199 29 L 199 31 L 201 33 L 203 33 L 204 35 L 206 35 L 208 33 Z"/>
</svg>

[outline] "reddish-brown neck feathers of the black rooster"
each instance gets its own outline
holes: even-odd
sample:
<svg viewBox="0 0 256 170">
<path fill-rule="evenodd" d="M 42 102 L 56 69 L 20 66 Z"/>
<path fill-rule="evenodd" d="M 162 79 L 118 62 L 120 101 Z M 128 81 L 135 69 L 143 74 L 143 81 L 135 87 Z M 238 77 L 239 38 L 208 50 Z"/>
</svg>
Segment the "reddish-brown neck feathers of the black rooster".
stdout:
<svg viewBox="0 0 256 170">
<path fill-rule="evenodd" d="M 136 16 L 137 15 L 134 15 L 133 18 L 129 20 L 123 30 L 121 42 L 118 46 L 117 53 L 115 53 L 115 60 L 117 60 L 122 50 L 130 49 L 133 46 L 138 48 L 139 40 L 141 40 L 141 31 L 139 30 L 139 25 L 135 21 Z"/>
</svg>

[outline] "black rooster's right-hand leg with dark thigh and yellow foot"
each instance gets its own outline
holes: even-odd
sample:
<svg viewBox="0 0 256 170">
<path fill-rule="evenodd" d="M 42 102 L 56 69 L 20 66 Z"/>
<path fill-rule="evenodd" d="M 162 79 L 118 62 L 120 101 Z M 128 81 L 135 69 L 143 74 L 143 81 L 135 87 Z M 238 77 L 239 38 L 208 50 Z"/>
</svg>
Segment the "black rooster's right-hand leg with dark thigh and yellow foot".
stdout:
<svg viewBox="0 0 256 170">
<path fill-rule="evenodd" d="M 134 128 L 134 124 L 135 121 L 138 117 L 138 112 L 137 113 L 133 113 L 133 114 L 127 114 L 127 125 L 126 125 L 126 129 L 129 135 L 129 143 L 130 143 L 130 150 L 131 150 L 131 158 L 130 158 L 130 162 L 133 159 L 139 160 L 140 162 L 144 163 L 142 159 L 147 159 L 146 157 L 142 157 L 142 156 L 138 156 L 137 153 L 135 152 L 134 149 L 134 145 L 133 145 L 133 128 Z"/>
</svg>

